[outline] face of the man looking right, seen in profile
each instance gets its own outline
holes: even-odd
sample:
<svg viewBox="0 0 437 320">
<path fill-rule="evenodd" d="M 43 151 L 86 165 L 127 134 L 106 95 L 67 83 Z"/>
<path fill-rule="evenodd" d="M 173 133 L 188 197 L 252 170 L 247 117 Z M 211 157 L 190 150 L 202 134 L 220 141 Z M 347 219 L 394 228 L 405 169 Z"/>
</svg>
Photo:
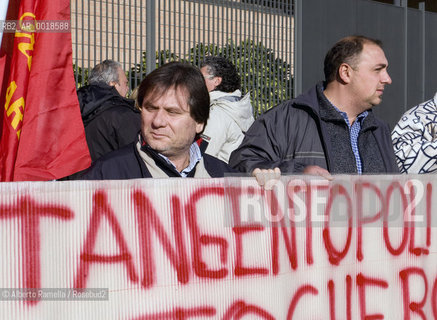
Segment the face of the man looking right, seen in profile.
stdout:
<svg viewBox="0 0 437 320">
<path fill-rule="evenodd" d="M 375 44 L 366 43 L 351 71 L 351 93 L 354 102 L 363 110 L 382 101 L 384 86 L 391 83 L 384 51 Z"/>
</svg>

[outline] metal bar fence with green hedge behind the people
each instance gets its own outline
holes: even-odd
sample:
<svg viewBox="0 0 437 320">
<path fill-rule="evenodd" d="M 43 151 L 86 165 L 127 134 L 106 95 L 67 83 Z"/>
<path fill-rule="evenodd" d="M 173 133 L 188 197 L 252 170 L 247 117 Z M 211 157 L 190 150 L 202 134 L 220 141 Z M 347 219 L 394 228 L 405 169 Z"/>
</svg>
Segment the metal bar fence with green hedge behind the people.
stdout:
<svg viewBox="0 0 437 320">
<path fill-rule="evenodd" d="M 294 0 L 72 0 L 76 83 L 92 67 L 119 61 L 136 87 L 171 60 L 231 60 L 255 115 L 293 95 Z"/>
</svg>

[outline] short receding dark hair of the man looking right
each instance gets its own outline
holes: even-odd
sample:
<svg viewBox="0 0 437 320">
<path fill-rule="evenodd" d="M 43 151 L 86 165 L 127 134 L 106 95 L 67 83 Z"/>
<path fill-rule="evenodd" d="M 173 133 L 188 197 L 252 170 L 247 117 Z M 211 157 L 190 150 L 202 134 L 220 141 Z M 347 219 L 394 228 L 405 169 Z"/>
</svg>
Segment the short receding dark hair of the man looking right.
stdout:
<svg viewBox="0 0 437 320">
<path fill-rule="evenodd" d="M 329 83 L 337 79 L 338 69 L 342 63 L 347 63 L 354 68 L 358 63 L 358 57 L 361 51 L 363 51 L 363 45 L 365 43 L 374 44 L 382 48 L 382 42 L 380 40 L 360 35 L 340 39 L 334 44 L 325 56 L 323 68 L 325 81 Z"/>
</svg>

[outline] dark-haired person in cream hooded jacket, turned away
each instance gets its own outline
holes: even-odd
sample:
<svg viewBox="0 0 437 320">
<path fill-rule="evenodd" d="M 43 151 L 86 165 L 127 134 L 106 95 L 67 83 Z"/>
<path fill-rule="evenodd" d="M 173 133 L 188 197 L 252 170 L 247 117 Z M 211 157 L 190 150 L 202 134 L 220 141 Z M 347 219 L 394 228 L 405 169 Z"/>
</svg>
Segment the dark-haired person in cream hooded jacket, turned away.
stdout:
<svg viewBox="0 0 437 320">
<path fill-rule="evenodd" d="M 209 121 L 202 135 L 208 142 L 206 153 L 227 163 L 254 121 L 250 94 L 242 96 L 240 76 L 227 59 L 208 56 L 200 67 L 211 99 Z"/>
</svg>

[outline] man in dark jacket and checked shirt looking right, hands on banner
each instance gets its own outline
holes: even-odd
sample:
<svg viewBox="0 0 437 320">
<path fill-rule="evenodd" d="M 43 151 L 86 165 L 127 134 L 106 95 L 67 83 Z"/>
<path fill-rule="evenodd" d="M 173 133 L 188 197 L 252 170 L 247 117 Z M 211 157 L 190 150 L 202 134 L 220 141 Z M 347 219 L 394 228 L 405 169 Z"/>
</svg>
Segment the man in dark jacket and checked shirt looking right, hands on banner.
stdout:
<svg viewBox="0 0 437 320">
<path fill-rule="evenodd" d="M 281 172 L 398 172 L 389 127 L 371 110 L 391 83 L 381 46 L 364 36 L 338 41 L 325 57 L 326 81 L 259 117 L 229 164 L 260 184 Z"/>
</svg>

